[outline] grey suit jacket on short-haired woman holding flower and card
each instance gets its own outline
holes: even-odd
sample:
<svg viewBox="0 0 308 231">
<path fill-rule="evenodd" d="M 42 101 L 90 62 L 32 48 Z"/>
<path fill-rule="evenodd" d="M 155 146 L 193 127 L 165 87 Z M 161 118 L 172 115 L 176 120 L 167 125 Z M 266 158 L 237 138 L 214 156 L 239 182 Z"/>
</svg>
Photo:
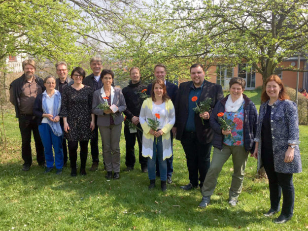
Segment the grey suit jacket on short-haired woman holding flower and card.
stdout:
<svg viewBox="0 0 308 231">
<path fill-rule="evenodd" d="M 100 103 L 104 102 L 103 97 L 105 97 L 103 88 L 94 92 L 92 101 L 92 113 L 98 116 L 98 126 L 108 127 L 110 125 L 110 114 L 105 114 L 102 109 L 97 108 Z M 114 104 L 119 108 L 119 111 L 115 113 L 113 118 L 114 124 L 121 124 L 124 121 L 122 112 L 126 109 L 126 103 L 121 89 L 117 87 L 111 87 L 110 97 L 112 102 L 111 104 Z"/>
</svg>

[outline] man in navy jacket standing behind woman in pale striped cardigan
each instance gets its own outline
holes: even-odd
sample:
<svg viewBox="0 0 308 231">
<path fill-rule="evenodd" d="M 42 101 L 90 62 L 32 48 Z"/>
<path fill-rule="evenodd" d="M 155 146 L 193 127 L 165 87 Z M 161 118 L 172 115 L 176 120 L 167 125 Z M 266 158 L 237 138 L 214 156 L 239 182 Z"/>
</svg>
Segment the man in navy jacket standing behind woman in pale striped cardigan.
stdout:
<svg viewBox="0 0 308 231">
<path fill-rule="evenodd" d="M 175 84 L 166 81 L 166 79 L 165 79 L 166 74 L 167 74 L 167 68 L 164 64 L 156 64 L 154 66 L 154 76 L 156 77 L 156 79 L 160 79 L 160 80 L 163 80 L 165 82 L 167 94 L 170 97 L 170 99 L 171 99 L 171 101 L 174 105 L 178 87 Z M 151 89 L 152 89 L 152 84 L 149 84 L 149 86 L 147 88 L 147 94 L 148 95 L 151 94 Z M 172 145 L 172 139 L 173 139 L 172 132 L 170 132 L 170 135 L 171 135 L 171 145 Z M 172 177 L 172 172 L 173 172 L 173 166 L 172 166 L 173 155 L 166 160 L 167 160 L 167 182 L 168 182 L 168 184 L 171 184 L 172 183 L 171 177 Z M 159 172 L 158 162 L 156 162 L 156 171 Z"/>
</svg>

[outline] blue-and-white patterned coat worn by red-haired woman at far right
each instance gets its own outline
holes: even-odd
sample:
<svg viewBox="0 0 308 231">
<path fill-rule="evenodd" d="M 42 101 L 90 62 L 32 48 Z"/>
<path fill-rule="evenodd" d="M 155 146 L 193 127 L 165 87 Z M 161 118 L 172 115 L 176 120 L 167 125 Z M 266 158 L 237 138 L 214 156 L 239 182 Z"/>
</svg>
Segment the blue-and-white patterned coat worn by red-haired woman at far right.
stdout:
<svg viewBox="0 0 308 231">
<path fill-rule="evenodd" d="M 259 142 L 258 146 L 258 170 L 262 166 L 261 161 L 261 129 L 263 118 L 269 101 L 260 106 L 258 127 L 254 141 Z M 271 112 L 271 131 L 273 143 L 273 156 L 275 172 L 297 173 L 302 172 L 301 154 L 298 144 L 299 127 L 298 112 L 295 102 L 288 99 L 276 100 Z M 284 155 L 288 144 L 295 144 L 294 159 L 291 163 L 284 162 Z"/>
</svg>

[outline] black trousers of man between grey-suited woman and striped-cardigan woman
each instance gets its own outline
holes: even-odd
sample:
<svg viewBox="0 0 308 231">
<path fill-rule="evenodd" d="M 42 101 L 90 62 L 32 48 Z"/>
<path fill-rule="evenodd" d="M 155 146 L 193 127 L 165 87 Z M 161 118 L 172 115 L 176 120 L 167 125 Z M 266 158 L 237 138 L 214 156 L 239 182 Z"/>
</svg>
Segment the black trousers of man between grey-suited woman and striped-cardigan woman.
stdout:
<svg viewBox="0 0 308 231">
<path fill-rule="evenodd" d="M 140 123 L 138 124 L 138 128 L 141 129 Z M 131 133 L 129 127 L 124 125 L 124 136 L 126 141 L 125 165 L 132 168 L 135 166 L 135 143 L 137 137 L 139 147 L 139 163 L 141 165 L 141 169 L 147 168 L 147 158 L 142 156 L 142 132 L 137 129 L 137 133 Z"/>
</svg>

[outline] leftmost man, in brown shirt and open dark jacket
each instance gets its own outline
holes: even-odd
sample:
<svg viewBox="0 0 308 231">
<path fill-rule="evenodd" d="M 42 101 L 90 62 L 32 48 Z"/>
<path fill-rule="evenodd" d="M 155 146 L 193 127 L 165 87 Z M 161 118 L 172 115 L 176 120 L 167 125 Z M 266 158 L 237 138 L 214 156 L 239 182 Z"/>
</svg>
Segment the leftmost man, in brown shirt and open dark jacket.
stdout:
<svg viewBox="0 0 308 231">
<path fill-rule="evenodd" d="M 32 165 L 31 132 L 33 132 L 36 161 L 45 166 L 44 147 L 39 136 L 38 126 L 33 115 L 34 100 L 45 90 L 43 80 L 35 76 L 35 62 L 25 60 L 22 64 L 24 74 L 10 84 L 10 102 L 15 106 L 16 117 L 21 133 L 21 155 L 24 160 L 22 170 L 28 171 Z"/>
</svg>

